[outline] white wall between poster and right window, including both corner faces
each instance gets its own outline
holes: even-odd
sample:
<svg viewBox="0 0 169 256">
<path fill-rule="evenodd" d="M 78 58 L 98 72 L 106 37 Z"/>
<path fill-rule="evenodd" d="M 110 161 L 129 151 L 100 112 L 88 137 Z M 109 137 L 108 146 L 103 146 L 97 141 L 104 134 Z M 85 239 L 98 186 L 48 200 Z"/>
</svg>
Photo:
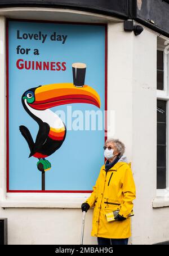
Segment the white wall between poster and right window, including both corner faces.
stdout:
<svg viewBox="0 0 169 256">
<path fill-rule="evenodd" d="M 108 31 L 108 106 L 115 110 L 114 136 L 126 144 L 136 183 L 131 243 L 168 241 L 169 208 L 153 208 L 157 195 L 157 35 L 145 28 L 136 37 L 123 32 L 121 23 L 109 24 Z"/>
</svg>

